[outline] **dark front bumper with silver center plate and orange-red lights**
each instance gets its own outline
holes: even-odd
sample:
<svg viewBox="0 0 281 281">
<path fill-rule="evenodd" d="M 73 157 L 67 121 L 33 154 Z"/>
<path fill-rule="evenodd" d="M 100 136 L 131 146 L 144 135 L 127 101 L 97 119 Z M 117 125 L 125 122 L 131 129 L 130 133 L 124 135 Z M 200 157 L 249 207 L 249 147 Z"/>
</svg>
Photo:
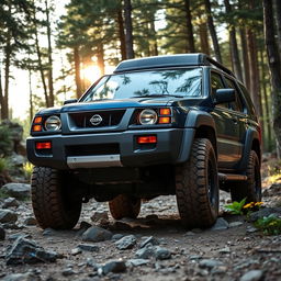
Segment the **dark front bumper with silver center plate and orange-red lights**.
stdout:
<svg viewBox="0 0 281 281">
<path fill-rule="evenodd" d="M 162 128 L 125 131 L 99 134 L 33 136 L 26 140 L 27 158 L 35 166 L 55 169 L 99 167 L 145 167 L 160 164 L 180 164 L 189 158 L 194 138 L 194 128 Z M 157 144 L 138 145 L 137 136 L 156 135 Z M 36 150 L 36 142 L 52 142 L 47 154 Z M 106 153 L 106 145 L 116 145 L 117 151 Z M 105 149 L 97 155 L 71 155 L 69 147 L 103 145 Z"/>
</svg>

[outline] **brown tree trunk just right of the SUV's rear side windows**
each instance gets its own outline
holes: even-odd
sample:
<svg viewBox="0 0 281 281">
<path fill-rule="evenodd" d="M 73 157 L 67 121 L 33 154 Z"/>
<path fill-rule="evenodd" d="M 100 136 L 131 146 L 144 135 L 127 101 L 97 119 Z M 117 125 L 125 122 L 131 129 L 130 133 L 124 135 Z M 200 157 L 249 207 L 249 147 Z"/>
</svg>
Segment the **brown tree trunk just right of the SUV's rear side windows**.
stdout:
<svg viewBox="0 0 281 281">
<path fill-rule="evenodd" d="M 254 101 L 257 114 L 262 115 L 260 86 L 259 86 L 259 67 L 258 67 L 258 50 L 256 36 L 250 29 L 247 30 L 247 41 L 249 48 L 249 66 L 250 66 L 250 93 Z"/>
</svg>

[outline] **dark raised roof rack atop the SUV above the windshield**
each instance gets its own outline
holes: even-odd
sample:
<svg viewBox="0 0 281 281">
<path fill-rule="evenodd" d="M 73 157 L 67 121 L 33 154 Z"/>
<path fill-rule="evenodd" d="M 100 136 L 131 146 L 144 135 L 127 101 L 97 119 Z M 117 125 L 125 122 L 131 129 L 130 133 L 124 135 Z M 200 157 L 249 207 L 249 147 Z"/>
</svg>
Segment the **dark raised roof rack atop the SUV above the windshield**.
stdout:
<svg viewBox="0 0 281 281">
<path fill-rule="evenodd" d="M 212 59 L 205 54 L 178 54 L 178 55 L 166 55 L 166 56 L 155 56 L 155 57 L 144 57 L 127 59 L 121 61 L 114 74 L 120 74 L 130 70 L 139 69 L 151 69 L 151 68 L 164 68 L 164 67 L 175 67 L 175 66 L 215 66 L 216 68 L 223 70 L 224 72 L 234 76 L 233 71 L 221 65 L 218 61 Z"/>
</svg>

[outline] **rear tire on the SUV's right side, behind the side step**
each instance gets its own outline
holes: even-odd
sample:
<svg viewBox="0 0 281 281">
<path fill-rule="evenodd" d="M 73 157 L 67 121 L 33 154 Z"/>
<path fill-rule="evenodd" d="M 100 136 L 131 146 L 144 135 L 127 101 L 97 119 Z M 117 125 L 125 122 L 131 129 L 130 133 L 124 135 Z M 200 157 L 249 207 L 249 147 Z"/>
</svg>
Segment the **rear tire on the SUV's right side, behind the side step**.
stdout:
<svg viewBox="0 0 281 281">
<path fill-rule="evenodd" d="M 261 201 L 261 176 L 260 162 L 255 150 L 249 154 L 248 166 L 246 170 L 247 181 L 231 184 L 232 201 L 241 201 L 246 198 L 246 202 Z"/>
</svg>

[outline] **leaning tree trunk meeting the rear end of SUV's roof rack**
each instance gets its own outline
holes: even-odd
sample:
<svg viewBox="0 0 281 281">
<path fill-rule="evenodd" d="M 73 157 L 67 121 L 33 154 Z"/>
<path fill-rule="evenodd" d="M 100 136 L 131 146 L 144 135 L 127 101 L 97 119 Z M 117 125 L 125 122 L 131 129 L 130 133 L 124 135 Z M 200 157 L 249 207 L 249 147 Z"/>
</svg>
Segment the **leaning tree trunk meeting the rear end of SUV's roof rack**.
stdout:
<svg viewBox="0 0 281 281">
<path fill-rule="evenodd" d="M 229 0 L 224 0 L 224 3 L 225 3 L 226 13 L 231 13 L 232 7 L 229 3 Z M 228 30 L 229 30 L 229 43 L 231 43 L 233 70 L 234 70 L 235 75 L 237 76 L 237 78 L 240 81 L 243 81 L 241 64 L 240 64 L 240 59 L 239 59 L 238 45 L 237 45 L 237 40 L 236 40 L 236 30 L 232 23 L 228 25 Z"/>
</svg>

